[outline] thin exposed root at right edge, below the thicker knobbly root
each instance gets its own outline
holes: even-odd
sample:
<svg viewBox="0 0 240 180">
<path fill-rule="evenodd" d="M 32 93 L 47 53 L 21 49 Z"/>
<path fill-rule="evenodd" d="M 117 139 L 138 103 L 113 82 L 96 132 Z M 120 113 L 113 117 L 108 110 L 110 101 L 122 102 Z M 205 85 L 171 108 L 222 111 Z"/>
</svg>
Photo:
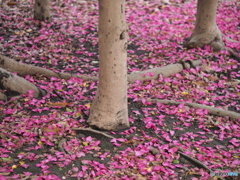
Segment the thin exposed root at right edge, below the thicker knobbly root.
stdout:
<svg viewBox="0 0 240 180">
<path fill-rule="evenodd" d="M 195 109 L 207 109 L 208 112 L 212 115 L 216 116 L 228 116 L 232 119 L 238 120 L 240 118 L 240 114 L 232 111 L 227 111 L 224 109 L 219 109 L 207 105 L 197 104 L 197 103 L 186 103 L 186 102 L 177 102 L 173 100 L 160 100 L 160 99 L 147 99 L 148 102 L 157 103 L 160 102 L 165 105 L 179 105 L 184 104 L 185 106 L 195 108 Z"/>
</svg>

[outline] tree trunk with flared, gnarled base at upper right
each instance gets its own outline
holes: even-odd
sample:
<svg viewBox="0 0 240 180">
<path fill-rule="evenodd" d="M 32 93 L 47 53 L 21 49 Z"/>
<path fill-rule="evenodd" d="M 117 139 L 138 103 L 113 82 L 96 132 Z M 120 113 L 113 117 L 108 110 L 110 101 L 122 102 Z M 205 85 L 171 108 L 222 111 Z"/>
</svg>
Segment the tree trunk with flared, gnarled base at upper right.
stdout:
<svg viewBox="0 0 240 180">
<path fill-rule="evenodd" d="M 187 44 L 188 48 L 210 45 L 213 50 L 224 48 L 222 33 L 216 24 L 218 0 L 198 0 L 195 29 Z"/>
</svg>

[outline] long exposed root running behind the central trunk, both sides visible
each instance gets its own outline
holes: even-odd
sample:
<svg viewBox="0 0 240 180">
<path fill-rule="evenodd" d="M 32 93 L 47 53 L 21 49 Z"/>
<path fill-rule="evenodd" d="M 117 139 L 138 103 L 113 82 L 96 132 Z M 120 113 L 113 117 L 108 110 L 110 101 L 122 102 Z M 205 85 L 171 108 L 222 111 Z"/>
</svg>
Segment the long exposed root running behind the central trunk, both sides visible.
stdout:
<svg viewBox="0 0 240 180">
<path fill-rule="evenodd" d="M 194 67 L 200 65 L 201 63 L 201 60 L 191 61 L 191 64 Z M 164 67 L 148 69 L 145 71 L 133 72 L 128 75 L 128 82 L 133 83 L 135 80 L 145 81 L 149 79 L 157 79 L 159 74 L 162 74 L 164 77 L 168 77 L 171 74 L 181 72 L 184 68 L 190 68 L 191 64 L 189 64 L 188 62 L 185 62 L 184 65 L 183 63 L 176 63 Z M 61 79 L 78 77 L 83 80 L 98 81 L 98 77 L 95 76 L 75 75 L 63 72 L 56 73 L 45 68 L 16 62 L 13 59 L 10 59 L 3 55 L 0 55 L 0 67 L 10 72 L 16 72 L 21 76 L 41 74 L 47 77 L 57 77 Z"/>
</svg>

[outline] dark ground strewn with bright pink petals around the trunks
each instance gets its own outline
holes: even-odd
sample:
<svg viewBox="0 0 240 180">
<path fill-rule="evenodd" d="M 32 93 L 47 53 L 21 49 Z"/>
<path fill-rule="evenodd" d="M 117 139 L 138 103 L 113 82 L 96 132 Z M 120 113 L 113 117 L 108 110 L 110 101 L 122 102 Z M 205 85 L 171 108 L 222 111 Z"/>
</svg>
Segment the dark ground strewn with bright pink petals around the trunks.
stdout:
<svg viewBox="0 0 240 180">
<path fill-rule="evenodd" d="M 33 4 L 19 2 L 0 7 L 1 54 L 57 72 L 98 74 L 96 1 L 52 1 L 50 23 L 34 21 Z M 226 46 L 238 55 L 239 9 L 238 2 L 223 1 L 217 16 Z M 196 1 L 191 0 L 169 5 L 127 1 L 129 73 L 180 60 L 203 61 L 201 67 L 170 77 L 129 84 L 127 130 L 104 134 L 76 130 L 88 128 L 96 82 L 24 77 L 48 94 L 35 99 L 29 92 L 0 101 L 0 180 L 196 180 L 210 177 L 206 166 L 215 172 L 240 172 L 239 120 L 183 104 L 146 101 L 194 102 L 240 113 L 240 60 L 210 47 L 183 48 L 195 14 Z"/>
</svg>

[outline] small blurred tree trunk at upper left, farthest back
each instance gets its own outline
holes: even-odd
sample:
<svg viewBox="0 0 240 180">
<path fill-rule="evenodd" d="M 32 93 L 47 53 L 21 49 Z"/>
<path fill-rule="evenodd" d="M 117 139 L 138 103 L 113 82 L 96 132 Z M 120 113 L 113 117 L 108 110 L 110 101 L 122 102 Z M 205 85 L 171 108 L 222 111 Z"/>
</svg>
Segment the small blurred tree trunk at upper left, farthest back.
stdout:
<svg viewBox="0 0 240 180">
<path fill-rule="evenodd" d="M 34 19 L 39 21 L 50 20 L 49 0 L 35 0 Z"/>
</svg>

